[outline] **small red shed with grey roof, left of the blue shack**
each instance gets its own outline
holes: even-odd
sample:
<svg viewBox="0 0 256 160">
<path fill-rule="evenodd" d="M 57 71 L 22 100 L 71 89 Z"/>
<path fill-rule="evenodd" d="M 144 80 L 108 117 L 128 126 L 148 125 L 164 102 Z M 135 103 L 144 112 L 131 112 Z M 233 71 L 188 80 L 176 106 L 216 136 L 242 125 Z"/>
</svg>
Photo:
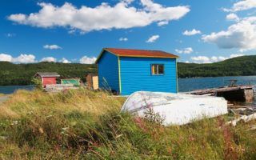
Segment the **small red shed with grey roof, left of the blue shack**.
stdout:
<svg viewBox="0 0 256 160">
<path fill-rule="evenodd" d="M 56 72 L 38 72 L 34 75 L 35 78 L 40 78 L 42 82 L 42 87 L 46 87 L 46 85 L 55 85 L 57 84 L 57 78 L 60 75 Z"/>
</svg>

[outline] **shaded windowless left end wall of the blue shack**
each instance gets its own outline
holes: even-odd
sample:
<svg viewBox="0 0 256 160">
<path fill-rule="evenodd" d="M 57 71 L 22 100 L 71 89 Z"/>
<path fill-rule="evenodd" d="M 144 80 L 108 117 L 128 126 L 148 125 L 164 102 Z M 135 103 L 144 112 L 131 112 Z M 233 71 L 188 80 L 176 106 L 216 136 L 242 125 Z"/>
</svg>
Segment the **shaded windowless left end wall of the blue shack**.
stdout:
<svg viewBox="0 0 256 160">
<path fill-rule="evenodd" d="M 107 51 L 98 61 L 98 86 L 119 93 L 118 57 Z"/>
</svg>

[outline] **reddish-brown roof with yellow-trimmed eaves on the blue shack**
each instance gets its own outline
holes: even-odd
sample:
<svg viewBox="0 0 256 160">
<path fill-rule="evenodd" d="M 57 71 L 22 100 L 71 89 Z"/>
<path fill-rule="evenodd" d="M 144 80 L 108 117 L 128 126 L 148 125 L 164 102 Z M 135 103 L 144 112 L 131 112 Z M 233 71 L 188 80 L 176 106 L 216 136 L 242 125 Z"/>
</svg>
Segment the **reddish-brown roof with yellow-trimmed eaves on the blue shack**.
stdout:
<svg viewBox="0 0 256 160">
<path fill-rule="evenodd" d="M 118 49 L 118 48 L 104 48 L 103 51 L 109 51 L 120 57 L 139 57 L 139 58 L 178 58 L 178 55 L 170 54 L 162 50 L 132 50 L 132 49 Z M 98 56 L 101 58 L 102 53 Z"/>
</svg>

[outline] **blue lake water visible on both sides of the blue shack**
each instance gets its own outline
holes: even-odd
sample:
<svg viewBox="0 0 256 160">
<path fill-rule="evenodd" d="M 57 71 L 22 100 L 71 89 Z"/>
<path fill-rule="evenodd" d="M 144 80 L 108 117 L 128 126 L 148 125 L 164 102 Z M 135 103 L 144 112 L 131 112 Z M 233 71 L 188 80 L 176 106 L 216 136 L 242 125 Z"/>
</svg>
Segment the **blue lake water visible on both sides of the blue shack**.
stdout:
<svg viewBox="0 0 256 160">
<path fill-rule="evenodd" d="M 191 90 L 200 90 L 220 86 L 228 86 L 230 79 L 237 79 L 238 85 L 255 85 L 256 76 L 238 76 L 238 77 L 217 77 L 217 78 L 178 78 L 178 90 L 186 92 Z M 12 94 L 15 90 L 33 90 L 34 86 L 0 86 L 0 93 Z"/>
</svg>

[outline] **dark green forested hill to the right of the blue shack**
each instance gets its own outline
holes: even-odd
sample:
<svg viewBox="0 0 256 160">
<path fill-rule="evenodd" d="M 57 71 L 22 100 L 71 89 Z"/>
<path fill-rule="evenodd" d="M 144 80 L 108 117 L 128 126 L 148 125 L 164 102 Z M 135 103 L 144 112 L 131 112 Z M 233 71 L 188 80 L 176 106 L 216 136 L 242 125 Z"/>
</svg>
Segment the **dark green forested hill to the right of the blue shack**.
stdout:
<svg viewBox="0 0 256 160">
<path fill-rule="evenodd" d="M 178 63 L 178 77 L 256 75 L 256 55 L 230 58 L 209 64 Z"/>
</svg>

